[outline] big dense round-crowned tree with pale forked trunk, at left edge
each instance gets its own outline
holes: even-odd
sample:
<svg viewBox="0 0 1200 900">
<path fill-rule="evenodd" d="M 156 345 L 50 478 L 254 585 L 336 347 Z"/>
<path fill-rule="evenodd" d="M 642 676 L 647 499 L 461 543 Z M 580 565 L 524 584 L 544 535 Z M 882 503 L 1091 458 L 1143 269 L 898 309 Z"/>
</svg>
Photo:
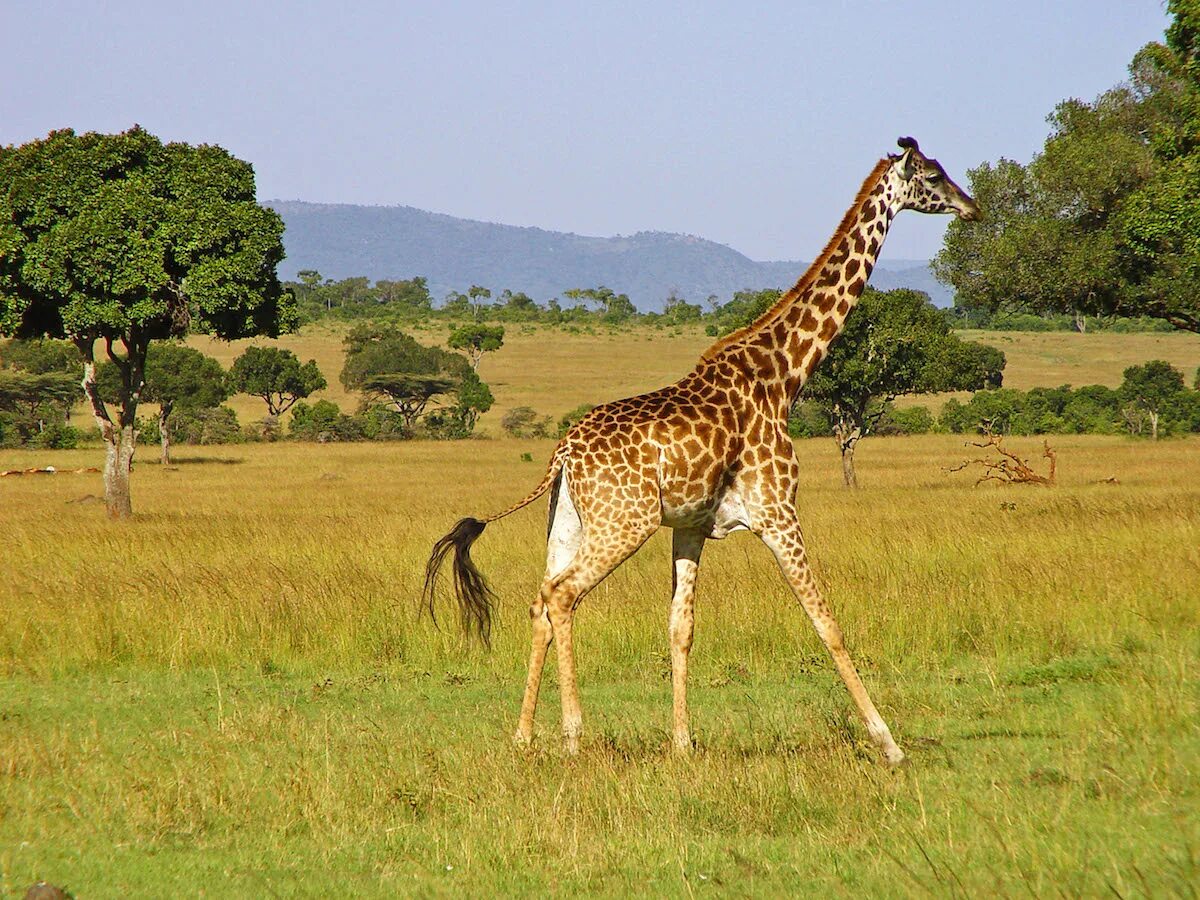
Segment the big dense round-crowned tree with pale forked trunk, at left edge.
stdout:
<svg viewBox="0 0 1200 900">
<path fill-rule="evenodd" d="M 0 334 L 66 337 L 106 445 L 109 516 L 132 514 L 136 415 L 152 341 L 295 324 L 275 266 L 283 222 L 258 205 L 250 163 L 215 145 L 64 130 L 0 148 Z M 96 344 L 120 376 L 116 418 Z"/>
</svg>

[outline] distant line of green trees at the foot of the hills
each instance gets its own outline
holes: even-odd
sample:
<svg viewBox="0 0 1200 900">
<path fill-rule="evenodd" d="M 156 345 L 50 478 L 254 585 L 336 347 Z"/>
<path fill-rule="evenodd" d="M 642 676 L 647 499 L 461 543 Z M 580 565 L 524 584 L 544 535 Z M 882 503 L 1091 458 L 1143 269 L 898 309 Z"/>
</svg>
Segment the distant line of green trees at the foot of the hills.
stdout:
<svg viewBox="0 0 1200 900">
<path fill-rule="evenodd" d="M 702 304 L 674 292 L 667 294 L 661 312 L 640 312 L 628 295 L 605 286 L 564 292 L 542 305 L 521 292 L 472 286 L 466 293 L 450 292 L 434 304 L 425 278 L 376 281 L 366 277 L 332 281 L 305 270 L 300 281 L 284 282 L 296 298 L 304 322 L 374 319 L 413 323 L 425 319 L 461 322 L 527 322 L 546 325 L 606 324 L 674 326 L 702 324 L 713 336 L 727 334 L 764 312 L 781 295 L 779 288 L 739 290 L 721 301 L 716 295 Z M 990 312 L 952 306 L 941 313 L 952 328 L 994 331 L 1171 331 L 1169 323 L 1151 318 L 1096 318 L 1081 316 Z"/>
</svg>

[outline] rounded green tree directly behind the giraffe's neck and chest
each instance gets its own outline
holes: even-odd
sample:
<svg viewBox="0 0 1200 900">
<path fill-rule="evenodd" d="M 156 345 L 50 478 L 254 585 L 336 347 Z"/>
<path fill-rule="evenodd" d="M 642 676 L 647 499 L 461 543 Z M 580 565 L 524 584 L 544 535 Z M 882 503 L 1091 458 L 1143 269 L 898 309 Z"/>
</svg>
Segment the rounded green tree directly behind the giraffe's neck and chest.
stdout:
<svg viewBox="0 0 1200 900">
<path fill-rule="evenodd" d="M 854 450 L 892 401 L 997 386 L 1003 368 L 1003 353 L 955 337 L 919 290 L 866 288 L 800 396 L 828 415 L 846 487 L 857 487 Z"/>
</svg>

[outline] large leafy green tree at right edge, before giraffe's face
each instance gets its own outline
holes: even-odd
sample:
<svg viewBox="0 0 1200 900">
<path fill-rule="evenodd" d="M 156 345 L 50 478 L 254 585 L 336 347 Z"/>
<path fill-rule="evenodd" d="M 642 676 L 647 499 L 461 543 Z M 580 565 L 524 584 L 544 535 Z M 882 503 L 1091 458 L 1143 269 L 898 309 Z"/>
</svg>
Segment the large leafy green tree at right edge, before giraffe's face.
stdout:
<svg viewBox="0 0 1200 900">
<path fill-rule="evenodd" d="M 985 210 L 935 260 L 965 307 L 1152 316 L 1200 331 L 1200 2 L 1092 103 L 1068 100 L 1028 164 L 970 173 Z"/>
</svg>

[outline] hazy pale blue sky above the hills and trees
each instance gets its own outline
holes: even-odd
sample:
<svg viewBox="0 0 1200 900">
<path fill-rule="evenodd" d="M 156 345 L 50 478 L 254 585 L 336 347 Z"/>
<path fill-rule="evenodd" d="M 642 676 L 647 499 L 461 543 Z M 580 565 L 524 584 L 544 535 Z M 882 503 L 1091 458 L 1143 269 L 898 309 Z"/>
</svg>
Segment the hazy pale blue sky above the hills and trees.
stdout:
<svg viewBox="0 0 1200 900">
<path fill-rule="evenodd" d="M 955 176 L 1024 161 L 1165 25 L 1157 0 L 0 0 L 0 144 L 140 122 L 250 160 L 263 199 L 806 258 L 899 134 Z M 943 227 L 908 214 L 886 256 Z"/>
</svg>

